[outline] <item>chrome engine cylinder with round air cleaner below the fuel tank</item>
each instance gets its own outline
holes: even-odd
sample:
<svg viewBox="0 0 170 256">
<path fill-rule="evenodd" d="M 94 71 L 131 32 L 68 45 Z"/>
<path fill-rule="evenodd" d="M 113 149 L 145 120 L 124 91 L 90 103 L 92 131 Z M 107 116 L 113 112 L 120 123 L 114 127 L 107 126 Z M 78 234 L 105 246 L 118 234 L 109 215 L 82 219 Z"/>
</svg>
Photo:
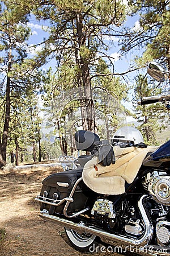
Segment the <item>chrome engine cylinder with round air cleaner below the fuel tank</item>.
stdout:
<svg viewBox="0 0 170 256">
<path fill-rule="evenodd" d="M 170 176 L 166 172 L 148 173 L 143 182 L 151 197 L 160 204 L 170 205 Z"/>
</svg>

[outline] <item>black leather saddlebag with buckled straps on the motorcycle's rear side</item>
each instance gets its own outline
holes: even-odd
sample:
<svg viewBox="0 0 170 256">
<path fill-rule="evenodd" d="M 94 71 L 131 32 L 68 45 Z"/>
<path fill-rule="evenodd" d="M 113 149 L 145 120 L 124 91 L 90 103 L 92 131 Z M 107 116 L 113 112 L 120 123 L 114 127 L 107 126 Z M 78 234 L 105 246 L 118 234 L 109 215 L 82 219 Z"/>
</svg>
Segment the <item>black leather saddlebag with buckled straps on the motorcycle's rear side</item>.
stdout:
<svg viewBox="0 0 170 256">
<path fill-rule="evenodd" d="M 75 182 L 82 176 L 82 171 L 83 169 L 68 170 L 46 177 L 42 181 L 40 196 L 44 196 L 44 194 L 46 194 L 46 201 L 48 201 L 48 199 L 53 199 L 54 193 L 57 193 L 58 195 L 57 200 L 69 197 Z M 74 195 L 72 197 L 74 201 L 73 203 L 69 204 L 67 213 L 77 212 L 84 209 L 86 207 L 88 195 L 90 194 L 89 192 L 90 189 L 81 180 L 76 186 Z M 49 214 L 53 214 L 54 212 L 63 213 L 65 204 L 66 201 L 58 206 L 49 205 L 44 202 L 41 204 L 41 210 L 47 209 L 49 210 Z"/>
</svg>

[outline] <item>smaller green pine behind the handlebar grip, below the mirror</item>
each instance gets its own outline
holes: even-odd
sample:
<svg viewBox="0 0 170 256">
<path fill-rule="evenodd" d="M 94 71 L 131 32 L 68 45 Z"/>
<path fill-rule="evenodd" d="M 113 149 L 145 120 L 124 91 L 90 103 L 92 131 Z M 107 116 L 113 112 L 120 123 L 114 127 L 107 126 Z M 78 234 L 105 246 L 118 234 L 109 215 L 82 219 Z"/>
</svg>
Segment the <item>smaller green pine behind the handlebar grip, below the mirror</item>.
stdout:
<svg viewBox="0 0 170 256">
<path fill-rule="evenodd" d="M 152 84 L 149 83 L 146 76 L 139 75 L 136 78 L 136 85 L 134 88 L 134 101 L 137 102 L 144 96 L 153 96 L 160 93 L 160 88 L 153 90 Z M 165 127 L 165 120 L 167 113 L 161 103 L 151 105 L 135 106 L 135 118 L 137 119 L 143 138 L 146 144 L 159 144 L 156 138 L 156 131 L 162 131 Z"/>
</svg>

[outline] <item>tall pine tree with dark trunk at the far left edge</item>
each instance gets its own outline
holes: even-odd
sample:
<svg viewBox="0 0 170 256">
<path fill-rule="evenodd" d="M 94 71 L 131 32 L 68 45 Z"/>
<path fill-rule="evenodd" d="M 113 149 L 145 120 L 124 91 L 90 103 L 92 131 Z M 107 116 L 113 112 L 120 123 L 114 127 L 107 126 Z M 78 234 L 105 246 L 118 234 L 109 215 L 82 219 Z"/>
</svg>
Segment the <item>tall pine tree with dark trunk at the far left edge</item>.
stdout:
<svg viewBox="0 0 170 256">
<path fill-rule="evenodd" d="M 26 43 L 30 34 L 30 29 L 27 26 L 28 14 L 28 10 L 20 5 L 8 1 L 1 3 L 2 122 L 0 127 L 0 166 L 6 164 L 9 132 L 14 124 L 12 118 L 18 115 L 19 119 L 19 105 L 24 104 L 24 97 L 32 92 L 36 93 L 41 80 L 37 71 L 39 65 L 37 65 L 36 60 L 28 59 Z M 18 148 L 18 138 L 14 138 L 14 141 L 16 148 Z"/>
</svg>

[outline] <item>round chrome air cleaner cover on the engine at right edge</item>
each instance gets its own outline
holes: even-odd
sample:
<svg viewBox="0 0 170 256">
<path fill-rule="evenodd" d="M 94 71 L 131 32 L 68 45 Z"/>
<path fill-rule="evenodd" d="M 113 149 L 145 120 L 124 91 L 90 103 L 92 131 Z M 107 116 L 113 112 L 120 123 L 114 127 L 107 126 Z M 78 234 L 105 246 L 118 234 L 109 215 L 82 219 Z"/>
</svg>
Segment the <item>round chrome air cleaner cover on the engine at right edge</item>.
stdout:
<svg viewBox="0 0 170 256">
<path fill-rule="evenodd" d="M 170 205 L 170 177 L 158 176 L 148 184 L 148 191 L 155 201 Z"/>
</svg>

